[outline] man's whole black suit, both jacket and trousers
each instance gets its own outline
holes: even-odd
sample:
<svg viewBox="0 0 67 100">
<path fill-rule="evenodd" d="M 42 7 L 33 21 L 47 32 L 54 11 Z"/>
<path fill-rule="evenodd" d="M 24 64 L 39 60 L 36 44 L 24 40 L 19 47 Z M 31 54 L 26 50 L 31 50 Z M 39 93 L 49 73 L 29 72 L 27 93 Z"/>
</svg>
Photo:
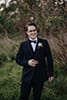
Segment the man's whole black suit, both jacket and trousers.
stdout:
<svg viewBox="0 0 67 100">
<path fill-rule="evenodd" d="M 39 43 L 42 45 L 40 46 Z M 38 60 L 39 63 L 35 68 L 28 65 L 29 59 Z M 53 60 L 47 40 L 38 38 L 35 52 L 33 52 L 29 40 L 22 42 L 16 62 L 23 66 L 20 100 L 28 100 L 31 86 L 34 88 L 34 100 L 40 100 L 44 81 L 49 76 L 53 76 Z"/>
</svg>

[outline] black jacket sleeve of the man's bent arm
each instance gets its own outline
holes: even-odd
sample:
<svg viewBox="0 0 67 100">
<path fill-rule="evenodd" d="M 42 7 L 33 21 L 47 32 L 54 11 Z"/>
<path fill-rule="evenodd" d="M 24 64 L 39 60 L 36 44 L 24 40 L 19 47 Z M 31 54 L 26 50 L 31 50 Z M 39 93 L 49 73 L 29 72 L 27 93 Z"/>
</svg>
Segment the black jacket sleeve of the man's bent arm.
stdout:
<svg viewBox="0 0 67 100">
<path fill-rule="evenodd" d="M 17 52 L 17 55 L 16 55 L 16 63 L 23 67 L 28 65 L 28 60 L 25 59 L 25 57 L 24 57 L 22 43 L 21 43 L 19 50 Z"/>
</svg>

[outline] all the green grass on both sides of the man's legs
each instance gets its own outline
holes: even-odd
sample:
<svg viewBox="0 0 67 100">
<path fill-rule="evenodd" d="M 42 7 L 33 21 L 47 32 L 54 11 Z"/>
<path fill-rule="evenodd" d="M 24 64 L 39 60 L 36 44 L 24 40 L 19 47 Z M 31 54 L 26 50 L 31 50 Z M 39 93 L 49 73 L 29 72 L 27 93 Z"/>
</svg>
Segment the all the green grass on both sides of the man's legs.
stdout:
<svg viewBox="0 0 67 100">
<path fill-rule="evenodd" d="M 55 64 L 55 79 L 53 82 L 45 82 L 42 100 L 66 100 L 67 99 L 67 74 Z M 20 95 L 22 67 L 15 61 L 4 63 L 0 67 L 0 100 L 18 100 Z M 32 91 L 30 94 L 32 100 Z"/>
</svg>

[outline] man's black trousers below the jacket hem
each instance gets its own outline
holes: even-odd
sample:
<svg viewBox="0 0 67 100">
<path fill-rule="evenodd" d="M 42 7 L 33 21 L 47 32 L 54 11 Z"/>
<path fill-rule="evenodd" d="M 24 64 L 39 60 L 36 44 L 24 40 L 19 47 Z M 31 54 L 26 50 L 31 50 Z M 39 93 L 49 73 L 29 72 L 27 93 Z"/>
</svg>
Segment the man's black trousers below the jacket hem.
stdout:
<svg viewBox="0 0 67 100">
<path fill-rule="evenodd" d="M 44 82 L 33 82 L 31 84 L 22 84 L 20 100 L 29 100 L 31 87 L 33 88 L 33 100 L 41 100 L 41 93 Z"/>
</svg>

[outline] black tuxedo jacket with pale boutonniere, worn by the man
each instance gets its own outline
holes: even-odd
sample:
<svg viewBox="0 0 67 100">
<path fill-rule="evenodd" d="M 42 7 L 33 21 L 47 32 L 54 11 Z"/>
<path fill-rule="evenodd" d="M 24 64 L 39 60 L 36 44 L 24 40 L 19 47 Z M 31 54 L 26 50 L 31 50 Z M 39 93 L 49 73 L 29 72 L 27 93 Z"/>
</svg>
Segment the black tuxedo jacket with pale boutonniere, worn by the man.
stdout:
<svg viewBox="0 0 67 100">
<path fill-rule="evenodd" d="M 29 59 L 38 60 L 39 63 L 35 68 L 28 65 Z M 16 62 L 23 66 L 24 83 L 30 83 L 33 77 L 34 81 L 42 82 L 53 76 L 53 60 L 47 40 L 38 38 L 35 52 L 29 40 L 22 42 L 16 55 Z"/>
</svg>

